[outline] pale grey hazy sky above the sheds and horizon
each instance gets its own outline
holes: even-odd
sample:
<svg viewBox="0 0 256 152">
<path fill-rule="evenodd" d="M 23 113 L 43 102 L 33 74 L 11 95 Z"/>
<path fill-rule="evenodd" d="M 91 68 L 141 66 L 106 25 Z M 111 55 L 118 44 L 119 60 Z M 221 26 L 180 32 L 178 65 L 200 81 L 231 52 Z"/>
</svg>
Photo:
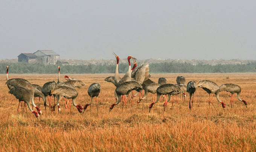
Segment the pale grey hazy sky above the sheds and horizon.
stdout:
<svg viewBox="0 0 256 152">
<path fill-rule="evenodd" d="M 0 59 L 256 60 L 256 1 L 1 0 Z"/>
</svg>

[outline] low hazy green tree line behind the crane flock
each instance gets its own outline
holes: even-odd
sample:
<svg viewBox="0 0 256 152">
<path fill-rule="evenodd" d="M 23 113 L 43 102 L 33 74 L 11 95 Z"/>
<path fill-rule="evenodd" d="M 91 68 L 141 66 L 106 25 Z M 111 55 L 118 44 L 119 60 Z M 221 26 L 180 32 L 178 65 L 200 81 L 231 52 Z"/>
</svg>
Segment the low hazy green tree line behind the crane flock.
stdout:
<svg viewBox="0 0 256 152">
<path fill-rule="evenodd" d="M 139 63 L 138 63 L 139 65 Z M 61 73 L 84 74 L 84 73 L 115 73 L 116 64 L 88 64 L 88 65 L 45 65 L 37 63 L 0 63 L 1 74 L 6 73 L 6 66 L 9 66 L 9 73 L 15 74 L 54 74 L 57 73 L 57 66 L 61 66 Z M 190 64 L 190 63 L 151 63 L 149 73 L 242 73 L 255 72 L 256 61 L 248 64 Z M 128 65 L 119 64 L 119 73 L 126 73 Z"/>
</svg>

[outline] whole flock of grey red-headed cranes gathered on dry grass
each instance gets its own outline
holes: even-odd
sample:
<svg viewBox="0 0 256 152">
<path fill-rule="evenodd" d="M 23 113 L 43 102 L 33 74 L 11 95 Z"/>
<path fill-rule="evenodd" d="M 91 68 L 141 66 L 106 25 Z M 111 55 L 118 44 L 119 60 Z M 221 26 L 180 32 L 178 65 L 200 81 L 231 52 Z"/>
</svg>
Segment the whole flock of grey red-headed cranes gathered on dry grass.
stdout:
<svg viewBox="0 0 256 152">
<path fill-rule="evenodd" d="M 128 64 L 129 68 L 126 74 L 123 77 L 119 76 L 118 72 L 118 64 L 119 64 L 119 56 L 116 55 L 113 52 L 114 56 L 116 57 L 116 72 L 114 76 L 108 76 L 105 78 L 105 81 L 111 82 L 116 86 L 116 89 L 113 90 L 116 102 L 111 104 L 109 107 L 109 111 L 113 109 L 113 107 L 117 104 L 119 104 L 121 101 L 123 104 L 126 104 L 126 98 L 131 100 L 132 108 L 133 108 L 133 100 L 134 97 L 139 95 L 139 100 L 136 102 L 139 104 L 142 100 L 144 100 L 149 92 L 152 93 L 152 103 L 149 105 L 149 112 L 151 111 L 154 104 L 156 104 L 159 100 L 161 95 L 163 95 L 163 100 L 165 100 L 163 107 L 164 110 L 166 109 L 166 106 L 168 102 L 171 100 L 172 95 L 172 106 L 174 103 L 174 95 L 177 100 L 177 107 L 178 107 L 178 94 L 181 94 L 182 97 L 186 97 L 186 92 L 189 93 L 189 109 L 192 109 L 193 107 L 193 101 L 194 101 L 194 93 L 197 88 L 204 89 L 209 94 L 209 108 L 210 103 L 213 105 L 213 94 L 216 95 L 216 99 L 219 103 L 221 103 L 222 108 L 224 109 L 226 105 L 219 99 L 219 92 L 221 91 L 227 91 L 231 93 L 230 98 L 230 104 L 232 107 L 233 104 L 233 98 L 234 94 L 237 94 L 237 98 L 239 101 L 242 101 L 247 107 L 247 102 L 245 100 L 241 100 L 240 93 L 241 93 L 241 87 L 236 84 L 232 83 L 226 83 L 217 85 L 215 82 L 211 80 L 200 80 L 198 83 L 195 81 L 189 81 L 186 83 L 186 78 L 183 76 L 178 76 L 176 79 L 177 84 L 171 84 L 166 83 L 166 79 L 164 77 L 160 77 L 158 79 L 158 83 L 152 81 L 149 74 L 149 64 L 148 63 L 141 63 L 139 66 L 137 66 L 136 58 L 132 56 L 128 56 Z M 131 68 L 131 62 L 130 60 L 133 60 L 133 67 Z M 85 85 L 84 82 L 78 79 L 72 79 L 69 76 L 65 76 L 66 81 L 62 81 L 60 79 L 60 67 L 58 66 L 58 81 L 55 80 L 49 81 L 44 83 L 43 86 L 37 85 L 37 84 L 31 84 L 29 81 L 22 79 L 22 78 L 8 78 L 8 70 L 9 66 L 6 66 L 6 85 L 9 88 L 9 93 L 14 95 L 15 98 L 19 100 L 17 112 L 19 113 L 19 106 L 21 104 L 22 109 L 22 103 L 21 101 L 24 101 L 24 103 L 27 104 L 29 110 L 34 113 L 36 117 L 42 114 L 42 111 L 39 109 L 38 106 L 36 106 L 34 102 L 34 97 L 39 97 L 43 99 L 44 102 L 44 108 L 45 112 L 47 113 L 46 107 L 49 106 L 49 112 L 55 111 L 55 107 L 58 106 L 58 112 L 61 112 L 61 108 L 59 106 L 59 101 L 62 97 L 65 98 L 65 113 L 67 110 L 70 112 L 70 104 L 72 101 L 73 106 L 75 106 L 78 109 L 78 112 L 83 115 L 84 110 L 87 109 L 88 106 L 91 107 L 91 103 L 93 102 L 93 98 L 96 97 L 97 99 L 97 115 L 98 115 L 98 95 L 101 92 L 101 85 L 99 83 L 92 83 L 88 88 L 88 95 L 90 96 L 90 103 L 87 103 L 84 107 L 81 105 L 76 104 L 76 98 L 78 96 L 78 91 L 76 91 L 76 88 L 81 88 Z M 134 94 L 133 90 L 136 91 Z M 144 90 L 144 92 L 143 92 Z M 155 97 L 155 94 L 157 94 L 157 98 Z M 210 95 L 212 94 L 212 98 L 210 100 Z M 54 104 L 51 103 L 51 96 L 54 97 Z M 168 95 L 168 100 L 166 99 L 166 95 Z M 55 103 L 56 98 L 56 103 Z M 47 103 L 47 99 L 49 101 L 49 104 Z M 30 107 L 30 101 L 37 109 L 37 111 L 34 111 Z M 26 106 L 24 104 L 24 106 Z M 214 105 L 213 105 L 214 107 Z M 24 108 L 24 107 L 23 107 Z M 215 107 L 214 107 L 215 108 Z M 216 109 L 216 108 L 215 108 Z M 23 111 L 23 109 L 22 109 Z M 90 112 L 91 113 L 91 112 Z"/>
</svg>

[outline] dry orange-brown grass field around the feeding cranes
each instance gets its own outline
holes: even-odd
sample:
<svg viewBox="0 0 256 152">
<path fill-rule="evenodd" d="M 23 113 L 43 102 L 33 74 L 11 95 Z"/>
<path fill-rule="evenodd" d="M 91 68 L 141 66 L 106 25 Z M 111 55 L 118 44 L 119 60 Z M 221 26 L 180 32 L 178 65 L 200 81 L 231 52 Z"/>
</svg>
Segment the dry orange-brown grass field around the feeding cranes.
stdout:
<svg viewBox="0 0 256 152">
<path fill-rule="evenodd" d="M 240 97 L 247 101 L 238 101 L 235 95 L 234 107 L 230 107 L 228 92 L 221 92 L 221 104 L 213 97 L 213 106 L 208 104 L 208 94 L 198 88 L 194 96 L 193 109 L 189 110 L 188 93 L 186 102 L 178 96 L 173 109 L 168 104 L 163 111 L 163 101 L 159 101 L 149 113 L 152 94 L 140 104 L 134 102 L 134 112 L 127 102 L 126 107 L 118 104 L 109 113 L 109 107 L 115 103 L 115 86 L 105 82 L 107 76 L 114 74 L 69 75 L 80 79 L 86 86 L 78 88 L 77 104 L 84 106 L 90 102 L 87 89 L 91 83 L 101 84 L 99 94 L 99 116 L 96 102 L 81 115 L 71 106 L 71 113 L 65 115 L 64 99 L 58 110 L 47 113 L 41 100 L 43 114 L 38 118 L 28 110 L 27 115 L 17 114 L 18 100 L 8 94 L 5 85 L 6 75 L 0 75 L 0 149 L 2 151 L 256 151 L 256 75 L 255 73 L 192 73 L 192 74 L 151 74 L 155 82 L 165 77 L 167 83 L 176 83 L 177 76 L 186 77 L 186 81 L 208 79 L 218 85 L 235 83 L 241 86 Z M 227 79 L 227 76 L 229 79 Z M 56 75 L 12 75 L 9 78 L 24 78 L 32 84 L 43 86 L 45 82 L 57 80 Z M 61 75 L 64 80 L 64 75 Z M 53 99 L 53 98 L 52 98 Z M 96 98 L 95 98 L 96 99 Z M 138 97 L 134 99 L 138 100 Z M 94 100 L 96 101 L 96 100 Z M 48 101 L 47 101 L 48 102 Z M 52 100 L 53 102 L 53 100 Z M 35 98 L 38 105 L 38 98 Z M 20 109 L 21 110 L 21 109 Z"/>
</svg>

